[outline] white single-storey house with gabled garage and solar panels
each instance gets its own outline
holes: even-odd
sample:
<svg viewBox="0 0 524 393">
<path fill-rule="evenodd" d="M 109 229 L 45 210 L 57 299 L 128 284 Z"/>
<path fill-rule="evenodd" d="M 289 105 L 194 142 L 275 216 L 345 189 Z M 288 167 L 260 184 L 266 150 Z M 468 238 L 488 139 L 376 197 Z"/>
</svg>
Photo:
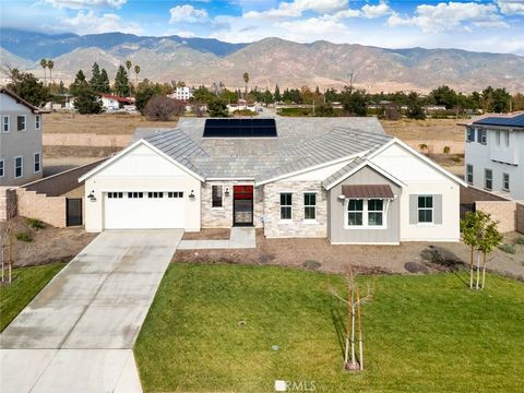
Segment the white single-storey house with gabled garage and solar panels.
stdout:
<svg viewBox="0 0 524 393">
<path fill-rule="evenodd" d="M 374 118 L 182 118 L 94 168 L 88 231 L 254 226 L 267 238 L 460 239 L 461 179 Z"/>
</svg>

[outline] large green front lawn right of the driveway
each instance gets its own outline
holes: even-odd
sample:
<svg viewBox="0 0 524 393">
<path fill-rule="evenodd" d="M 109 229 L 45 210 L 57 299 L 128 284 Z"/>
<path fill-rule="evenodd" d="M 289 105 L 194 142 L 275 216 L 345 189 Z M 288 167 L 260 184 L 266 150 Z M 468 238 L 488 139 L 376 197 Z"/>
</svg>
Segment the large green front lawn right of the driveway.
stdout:
<svg viewBox="0 0 524 393">
<path fill-rule="evenodd" d="M 344 307 L 329 290 L 342 290 L 340 276 L 172 264 L 134 350 L 143 386 L 272 392 L 282 379 L 319 392 L 522 391 L 524 285 L 489 275 L 472 291 L 466 279 L 379 276 L 364 308 L 366 370 L 347 373 Z"/>
</svg>

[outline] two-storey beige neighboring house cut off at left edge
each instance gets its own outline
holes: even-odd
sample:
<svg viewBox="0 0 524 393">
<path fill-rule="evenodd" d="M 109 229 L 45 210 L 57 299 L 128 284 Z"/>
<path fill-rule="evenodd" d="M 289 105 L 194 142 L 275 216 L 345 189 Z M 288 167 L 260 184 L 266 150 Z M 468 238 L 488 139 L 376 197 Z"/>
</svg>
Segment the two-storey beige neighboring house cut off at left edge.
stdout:
<svg viewBox="0 0 524 393">
<path fill-rule="evenodd" d="M 22 186 L 43 176 L 41 110 L 0 87 L 0 186 Z"/>
</svg>

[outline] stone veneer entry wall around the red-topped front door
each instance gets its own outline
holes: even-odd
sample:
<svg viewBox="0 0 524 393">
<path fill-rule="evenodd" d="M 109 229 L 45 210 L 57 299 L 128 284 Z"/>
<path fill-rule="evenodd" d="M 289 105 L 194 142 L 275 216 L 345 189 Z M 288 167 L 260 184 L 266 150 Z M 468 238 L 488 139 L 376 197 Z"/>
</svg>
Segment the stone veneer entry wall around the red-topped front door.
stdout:
<svg viewBox="0 0 524 393">
<path fill-rule="evenodd" d="M 252 184 L 249 181 L 206 181 L 202 186 L 202 228 L 230 228 L 233 226 L 233 187 L 235 184 Z M 229 189 L 229 195 L 223 194 L 223 207 L 212 207 L 212 186 L 222 186 L 223 192 Z M 254 189 L 253 224 L 262 227 L 263 189 Z"/>
</svg>

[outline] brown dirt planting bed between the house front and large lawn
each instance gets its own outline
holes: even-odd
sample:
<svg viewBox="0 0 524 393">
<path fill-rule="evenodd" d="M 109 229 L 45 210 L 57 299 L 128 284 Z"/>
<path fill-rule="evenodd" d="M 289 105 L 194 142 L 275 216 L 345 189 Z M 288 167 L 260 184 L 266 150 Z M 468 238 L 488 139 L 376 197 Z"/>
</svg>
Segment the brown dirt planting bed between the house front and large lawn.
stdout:
<svg viewBox="0 0 524 393">
<path fill-rule="evenodd" d="M 515 236 L 508 235 L 507 241 L 512 242 Z M 524 246 L 515 248 L 515 254 L 493 251 L 489 255 L 488 266 L 524 279 Z M 172 258 L 172 262 L 274 264 L 318 269 L 330 273 L 341 273 L 347 264 L 362 273 L 424 273 L 448 270 L 462 265 L 464 261 L 468 263 L 469 250 L 462 243 L 331 246 L 326 239 L 265 239 L 262 230 L 257 230 L 257 249 L 179 250 Z"/>
</svg>

